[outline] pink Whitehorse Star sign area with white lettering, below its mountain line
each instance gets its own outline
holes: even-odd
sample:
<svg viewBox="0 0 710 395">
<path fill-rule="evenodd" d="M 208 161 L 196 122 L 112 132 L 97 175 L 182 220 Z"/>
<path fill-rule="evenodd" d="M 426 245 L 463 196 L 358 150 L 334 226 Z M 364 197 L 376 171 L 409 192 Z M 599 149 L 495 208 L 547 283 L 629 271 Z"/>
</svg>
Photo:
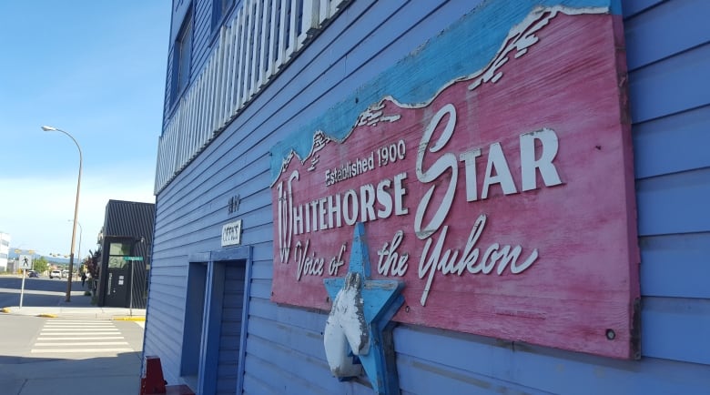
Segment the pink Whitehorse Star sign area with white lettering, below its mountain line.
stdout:
<svg viewBox="0 0 710 395">
<path fill-rule="evenodd" d="M 363 223 L 372 279 L 406 284 L 396 321 L 634 358 L 632 147 L 608 10 L 534 9 L 427 102 L 384 96 L 347 136 L 274 155 L 272 300 L 330 310 L 323 279 L 345 275 Z"/>
</svg>

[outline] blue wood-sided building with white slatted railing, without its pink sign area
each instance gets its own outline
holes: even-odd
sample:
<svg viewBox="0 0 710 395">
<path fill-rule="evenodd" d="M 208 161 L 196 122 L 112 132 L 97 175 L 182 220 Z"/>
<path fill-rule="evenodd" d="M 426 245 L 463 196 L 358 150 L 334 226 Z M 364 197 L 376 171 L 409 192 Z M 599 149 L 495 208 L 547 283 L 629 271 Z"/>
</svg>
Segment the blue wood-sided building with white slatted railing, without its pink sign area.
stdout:
<svg viewBox="0 0 710 395">
<path fill-rule="evenodd" d="M 372 347 L 397 390 L 334 377 L 329 309 L 274 299 L 281 157 L 309 157 L 318 132 L 348 137 L 385 96 L 431 100 L 558 11 L 623 28 L 640 251 L 628 358 L 396 316 Z M 173 0 L 144 354 L 201 394 L 710 394 L 707 15 L 704 0 Z"/>
</svg>

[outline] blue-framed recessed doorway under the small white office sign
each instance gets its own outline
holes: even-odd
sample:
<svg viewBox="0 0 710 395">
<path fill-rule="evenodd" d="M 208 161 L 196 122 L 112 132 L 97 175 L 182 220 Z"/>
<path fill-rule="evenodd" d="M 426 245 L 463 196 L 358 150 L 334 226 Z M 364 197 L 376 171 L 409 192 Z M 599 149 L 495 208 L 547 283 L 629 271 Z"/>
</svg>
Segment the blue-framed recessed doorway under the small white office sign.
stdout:
<svg viewBox="0 0 710 395">
<path fill-rule="evenodd" d="M 190 257 L 181 370 L 188 382 L 197 376 L 198 393 L 241 392 L 250 255 L 239 247 Z"/>
</svg>

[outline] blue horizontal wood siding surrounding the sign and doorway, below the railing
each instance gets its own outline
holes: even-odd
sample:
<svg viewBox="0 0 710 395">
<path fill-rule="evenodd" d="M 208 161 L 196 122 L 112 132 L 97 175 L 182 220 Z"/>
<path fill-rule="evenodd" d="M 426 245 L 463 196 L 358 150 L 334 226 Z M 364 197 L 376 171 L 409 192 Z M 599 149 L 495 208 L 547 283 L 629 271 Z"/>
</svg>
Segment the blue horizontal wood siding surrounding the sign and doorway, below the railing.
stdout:
<svg viewBox="0 0 710 395">
<path fill-rule="evenodd" d="M 220 249 L 222 224 L 240 218 L 242 245 L 253 248 L 244 393 L 371 393 L 330 375 L 322 346 L 325 312 L 269 300 L 269 148 L 476 5 L 353 1 L 159 192 L 145 352 L 161 357 L 168 382 L 180 382 L 188 254 Z M 402 394 L 710 393 L 710 30 L 704 22 L 710 2 L 623 6 L 642 254 L 642 359 L 400 326 L 394 342 Z M 238 212 L 229 215 L 228 198 L 236 195 Z"/>
</svg>

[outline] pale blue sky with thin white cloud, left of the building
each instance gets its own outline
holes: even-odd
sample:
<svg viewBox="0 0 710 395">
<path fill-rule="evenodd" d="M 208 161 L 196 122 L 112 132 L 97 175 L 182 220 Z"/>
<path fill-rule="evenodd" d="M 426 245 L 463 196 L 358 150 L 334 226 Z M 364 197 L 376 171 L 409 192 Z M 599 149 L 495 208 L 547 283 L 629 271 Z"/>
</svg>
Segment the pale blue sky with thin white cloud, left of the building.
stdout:
<svg viewBox="0 0 710 395">
<path fill-rule="evenodd" d="M 108 199 L 155 202 L 169 0 L 0 1 L 0 231 L 68 254 L 78 152 L 82 255 Z M 78 257 L 79 230 L 76 235 Z"/>
</svg>

